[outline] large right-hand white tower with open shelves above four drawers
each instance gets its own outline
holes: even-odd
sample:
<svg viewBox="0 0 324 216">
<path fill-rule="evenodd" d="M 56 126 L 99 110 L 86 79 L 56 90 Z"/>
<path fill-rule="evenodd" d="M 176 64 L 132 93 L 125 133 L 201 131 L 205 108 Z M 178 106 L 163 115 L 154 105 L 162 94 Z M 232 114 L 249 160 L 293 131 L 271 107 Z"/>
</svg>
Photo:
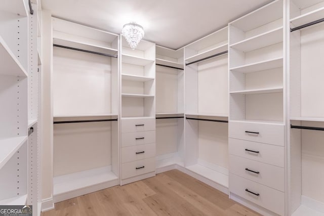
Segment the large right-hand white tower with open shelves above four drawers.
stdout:
<svg viewBox="0 0 324 216">
<path fill-rule="evenodd" d="M 230 198 L 285 215 L 284 1 L 229 23 Z"/>
</svg>

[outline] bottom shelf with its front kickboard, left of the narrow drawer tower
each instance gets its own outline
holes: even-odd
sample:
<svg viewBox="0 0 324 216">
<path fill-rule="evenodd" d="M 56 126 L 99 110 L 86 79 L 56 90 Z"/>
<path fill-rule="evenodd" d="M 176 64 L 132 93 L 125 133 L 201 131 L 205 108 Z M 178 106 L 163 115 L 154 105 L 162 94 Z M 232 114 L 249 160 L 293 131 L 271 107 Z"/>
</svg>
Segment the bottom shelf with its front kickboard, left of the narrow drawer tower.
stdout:
<svg viewBox="0 0 324 216">
<path fill-rule="evenodd" d="M 54 177 L 54 202 L 118 185 L 110 166 Z"/>
</svg>

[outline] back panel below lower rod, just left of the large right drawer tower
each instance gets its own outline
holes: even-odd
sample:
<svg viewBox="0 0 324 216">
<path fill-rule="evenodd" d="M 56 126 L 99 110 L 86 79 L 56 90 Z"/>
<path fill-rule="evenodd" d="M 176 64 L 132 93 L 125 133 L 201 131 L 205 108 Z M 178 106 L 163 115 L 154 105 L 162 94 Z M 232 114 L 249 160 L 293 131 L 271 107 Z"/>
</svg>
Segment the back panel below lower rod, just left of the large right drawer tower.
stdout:
<svg viewBox="0 0 324 216">
<path fill-rule="evenodd" d="M 228 168 L 228 124 L 198 121 L 198 158 Z"/>
</svg>

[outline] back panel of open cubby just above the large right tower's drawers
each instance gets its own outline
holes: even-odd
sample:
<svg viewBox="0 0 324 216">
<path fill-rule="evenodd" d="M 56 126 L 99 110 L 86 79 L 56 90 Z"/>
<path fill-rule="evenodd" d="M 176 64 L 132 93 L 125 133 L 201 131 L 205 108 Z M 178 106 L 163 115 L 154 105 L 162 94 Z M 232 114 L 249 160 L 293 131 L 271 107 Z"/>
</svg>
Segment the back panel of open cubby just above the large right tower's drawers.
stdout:
<svg viewBox="0 0 324 216">
<path fill-rule="evenodd" d="M 282 93 L 246 95 L 246 119 L 282 121 Z"/>
</svg>

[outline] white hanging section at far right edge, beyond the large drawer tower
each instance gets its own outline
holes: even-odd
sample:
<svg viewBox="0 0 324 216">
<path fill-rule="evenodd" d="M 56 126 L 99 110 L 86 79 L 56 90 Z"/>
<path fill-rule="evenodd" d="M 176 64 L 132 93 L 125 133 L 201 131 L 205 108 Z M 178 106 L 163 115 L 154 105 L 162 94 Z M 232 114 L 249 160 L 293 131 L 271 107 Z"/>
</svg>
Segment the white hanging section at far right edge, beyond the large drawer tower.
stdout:
<svg viewBox="0 0 324 216">
<path fill-rule="evenodd" d="M 294 216 L 324 215 L 323 18 L 324 1 L 290 1 L 288 184 Z"/>
</svg>

